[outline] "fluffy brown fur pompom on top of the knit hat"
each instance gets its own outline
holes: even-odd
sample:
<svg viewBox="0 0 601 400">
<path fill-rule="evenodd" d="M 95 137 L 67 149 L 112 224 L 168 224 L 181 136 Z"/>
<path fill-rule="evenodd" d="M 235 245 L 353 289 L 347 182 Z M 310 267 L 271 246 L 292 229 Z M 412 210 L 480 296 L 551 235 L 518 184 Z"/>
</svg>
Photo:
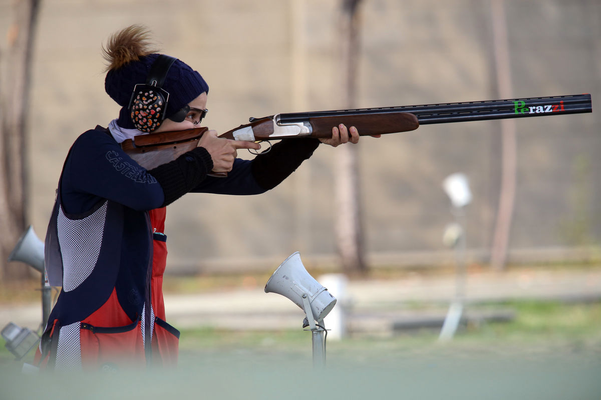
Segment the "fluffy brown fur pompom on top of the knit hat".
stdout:
<svg viewBox="0 0 601 400">
<path fill-rule="evenodd" d="M 102 58 L 105 59 L 106 71 L 117 70 L 141 57 L 157 53 L 151 41 L 151 32 L 144 25 L 130 25 L 112 34 L 102 46 Z"/>
</svg>

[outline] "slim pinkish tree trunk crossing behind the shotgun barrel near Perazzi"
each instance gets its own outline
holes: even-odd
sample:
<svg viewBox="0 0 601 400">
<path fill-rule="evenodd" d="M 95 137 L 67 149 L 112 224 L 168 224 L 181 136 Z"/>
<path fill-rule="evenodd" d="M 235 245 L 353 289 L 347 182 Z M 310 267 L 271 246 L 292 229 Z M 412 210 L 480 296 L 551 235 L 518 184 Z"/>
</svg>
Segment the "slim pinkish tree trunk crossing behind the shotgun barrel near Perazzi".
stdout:
<svg viewBox="0 0 601 400">
<path fill-rule="evenodd" d="M 511 70 L 507 40 L 507 20 L 503 0 L 491 0 L 493 51 L 495 55 L 496 86 L 499 98 L 511 98 Z M 496 214 L 495 233 L 490 254 L 490 266 L 504 269 L 516 197 L 517 139 L 513 119 L 501 123 L 501 192 Z"/>
</svg>

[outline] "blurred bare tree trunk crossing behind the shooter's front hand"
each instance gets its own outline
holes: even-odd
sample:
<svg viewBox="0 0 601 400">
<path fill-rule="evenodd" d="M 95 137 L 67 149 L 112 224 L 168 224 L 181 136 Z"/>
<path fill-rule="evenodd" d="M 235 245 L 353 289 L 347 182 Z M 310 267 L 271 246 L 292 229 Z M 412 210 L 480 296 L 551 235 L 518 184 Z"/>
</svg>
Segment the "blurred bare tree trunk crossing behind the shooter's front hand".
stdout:
<svg viewBox="0 0 601 400">
<path fill-rule="evenodd" d="M 341 84 L 337 96 L 345 102 L 344 108 L 355 108 L 357 97 L 358 65 L 358 13 L 361 0 L 341 2 Z M 350 127 L 347 127 L 350 128 Z M 348 275 L 364 275 L 367 272 L 363 255 L 361 206 L 359 190 L 359 166 L 357 148 L 353 145 L 337 149 L 336 199 L 337 199 L 337 247 L 344 272 Z"/>
</svg>

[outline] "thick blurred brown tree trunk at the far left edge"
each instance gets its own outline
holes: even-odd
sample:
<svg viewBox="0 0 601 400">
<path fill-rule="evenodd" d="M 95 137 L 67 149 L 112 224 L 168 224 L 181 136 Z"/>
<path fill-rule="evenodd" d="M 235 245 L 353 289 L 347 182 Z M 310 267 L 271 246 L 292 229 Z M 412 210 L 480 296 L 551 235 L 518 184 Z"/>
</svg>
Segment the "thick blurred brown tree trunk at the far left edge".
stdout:
<svg viewBox="0 0 601 400">
<path fill-rule="evenodd" d="M 8 48 L 0 76 L 0 281 L 28 278 L 29 269 L 7 258 L 25 231 L 27 204 L 26 118 L 31 58 L 39 0 L 18 0 L 8 29 Z"/>
</svg>

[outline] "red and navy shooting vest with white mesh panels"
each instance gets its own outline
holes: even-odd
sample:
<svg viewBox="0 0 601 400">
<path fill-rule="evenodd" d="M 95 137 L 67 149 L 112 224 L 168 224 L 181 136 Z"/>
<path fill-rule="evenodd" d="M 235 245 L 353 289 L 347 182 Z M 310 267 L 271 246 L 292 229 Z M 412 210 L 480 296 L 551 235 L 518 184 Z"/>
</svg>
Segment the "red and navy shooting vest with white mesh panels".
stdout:
<svg viewBox="0 0 601 400">
<path fill-rule="evenodd" d="M 42 335 L 38 365 L 59 371 L 175 365 L 179 332 L 165 322 L 162 294 L 165 207 L 135 212 L 103 200 L 72 215 L 60 193 L 59 181 L 44 252 L 48 282 L 62 290 Z M 137 272 L 121 264 L 125 213 L 141 227 L 145 243 Z"/>
</svg>

